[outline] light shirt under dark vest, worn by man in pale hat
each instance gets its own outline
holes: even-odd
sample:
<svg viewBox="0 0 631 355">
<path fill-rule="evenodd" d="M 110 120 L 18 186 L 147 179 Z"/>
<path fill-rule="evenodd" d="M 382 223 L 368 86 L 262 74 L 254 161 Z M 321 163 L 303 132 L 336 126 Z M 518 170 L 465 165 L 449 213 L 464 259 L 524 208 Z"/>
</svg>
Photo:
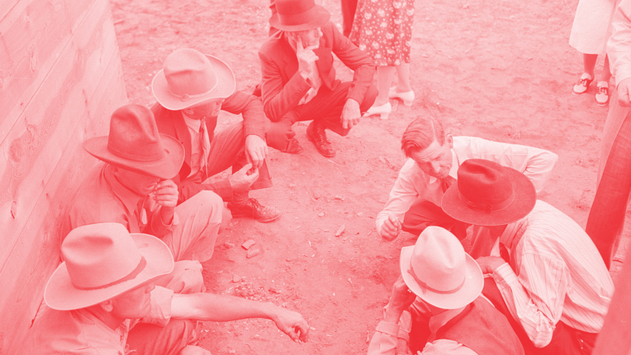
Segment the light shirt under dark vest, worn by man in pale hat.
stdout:
<svg viewBox="0 0 631 355">
<path fill-rule="evenodd" d="M 427 344 L 421 354 L 424 355 L 477 355 L 476 351 L 465 347 L 459 342 L 448 339 L 432 340 L 436 336 L 436 331 L 444 326 L 448 321 L 462 312 L 464 307 L 458 309 L 448 309 L 447 311 L 432 316 L 429 319 L 429 330 L 431 334 Z M 397 349 L 398 338 L 409 339 L 408 333 L 410 333 L 411 323 L 409 320 L 409 314 L 403 312 L 399 324 L 389 323 L 387 321 L 380 321 L 377 324 L 377 331 L 373 335 L 370 344 L 368 345 L 368 355 L 398 355 L 398 354 L 410 354 L 409 349 Z"/>
</svg>

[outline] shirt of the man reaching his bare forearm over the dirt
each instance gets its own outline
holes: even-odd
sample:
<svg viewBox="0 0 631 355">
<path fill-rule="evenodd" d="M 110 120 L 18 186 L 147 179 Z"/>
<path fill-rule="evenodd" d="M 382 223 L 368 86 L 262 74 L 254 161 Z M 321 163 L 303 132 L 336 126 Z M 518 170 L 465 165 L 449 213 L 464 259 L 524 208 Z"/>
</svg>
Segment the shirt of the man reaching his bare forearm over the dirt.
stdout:
<svg viewBox="0 0 631 355">
<path fill-rule="evenodd" d="M 151 312 L 144 319 L 127 319 L 112 329 L 88 309 L 57 311 L 46 306 L 29 332 L 27 355 L 123 355 L 127 333 L 139 322 L 166 326 L 171 319 L 173 291 L 156 286 Z"/>
</svg>

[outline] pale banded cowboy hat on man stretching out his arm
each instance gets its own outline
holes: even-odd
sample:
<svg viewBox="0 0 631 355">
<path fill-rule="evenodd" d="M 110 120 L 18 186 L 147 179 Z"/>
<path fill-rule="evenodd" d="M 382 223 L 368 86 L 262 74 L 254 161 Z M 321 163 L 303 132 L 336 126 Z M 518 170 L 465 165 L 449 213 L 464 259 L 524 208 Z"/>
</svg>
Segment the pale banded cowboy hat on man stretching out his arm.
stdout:
<svg viewBox="0 0 631 355">
<path fill-rule="evenodd" d="M 83 225 L 61 246 L 64 263 L 48 279 L 44 301 L 68 311 L 97 305 L 172 272 L 167 244 L 152 235 L 127 232 L 120 223 Z"/>
</svg>

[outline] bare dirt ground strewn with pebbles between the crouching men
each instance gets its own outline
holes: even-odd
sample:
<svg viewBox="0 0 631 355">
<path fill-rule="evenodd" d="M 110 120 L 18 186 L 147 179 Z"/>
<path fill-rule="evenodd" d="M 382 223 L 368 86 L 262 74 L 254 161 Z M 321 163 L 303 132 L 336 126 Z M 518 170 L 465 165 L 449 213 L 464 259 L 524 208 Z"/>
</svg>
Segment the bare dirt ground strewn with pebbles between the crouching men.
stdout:
<svg viewBox="0 0 631 355">
<path fill-rule="evenodd" d="M 339 0 L 317 1 L 341 25 Z M 204 324 L 213 354 L 363 354 L 398 276 L 403 234 L 382 242 L 374 218 L 405 158 L 400 137 L 419 115 L 443 119 L 456 135 L 538 146 L 559 164 L 539 198 L 585 226 L 595 195 L 606 108 L 594 89 L 571 95 L 582 57 L 567 44 L 578 0 L 416 1 L 411 79 L 417 99 L 388 120 L 363 118 L 323 158 L 298 123 L 300 155 L 270 149 L 275 186 L 251 193 L 283 216 L 262 224 L 233 220 L 204 264 L 209 291 L 295 309 L 310 340 L 294 344 L 270 321 Z M 130 102 L 151 105 L 150 85 L 165 57 L 190 47 L 235 72 L 237 90 L 260 80 L 257 51 L 268 33 L 268 0 L 112 0 Z M 597 74 L 602 69 L 602 58 Z M 342 78 L 352 74 L 338 67 Z M 392 102 L 395 104 L 395 102 Z M 240 119 L 222 113 L 221 123 Z M 340 228 L 341 235 L 336 236 Z M 254 239 L 262 253 L 240 246 Z M 235 245 L 230 247 L 230 244 Z"/>
</svg>

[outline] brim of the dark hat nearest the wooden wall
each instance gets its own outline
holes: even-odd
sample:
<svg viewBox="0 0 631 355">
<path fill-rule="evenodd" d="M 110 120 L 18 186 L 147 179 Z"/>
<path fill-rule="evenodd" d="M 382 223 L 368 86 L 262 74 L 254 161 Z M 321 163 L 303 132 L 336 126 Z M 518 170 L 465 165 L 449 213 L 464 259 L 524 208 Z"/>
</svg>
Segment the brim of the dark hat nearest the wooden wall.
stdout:
<svg viewBox="0 0 631 355">
<path fill-rule="evenodd" d="M 108 136 L 94 137 L 83 142 L 83 149 L 94 155 L 99 160 L 103 160 L 111 165 L 123 167 L 124 169 L 148 174 L 160 179 L 172 179 L 176 176 L 184 162 L 184 146 L 175 138 L 168 134 L 160 133 L 162 148 L 165 155 L 159 160 L 142 162 L 139 160 L 131 160 L 121 158 L 107 150 Z"/>
</svg>

